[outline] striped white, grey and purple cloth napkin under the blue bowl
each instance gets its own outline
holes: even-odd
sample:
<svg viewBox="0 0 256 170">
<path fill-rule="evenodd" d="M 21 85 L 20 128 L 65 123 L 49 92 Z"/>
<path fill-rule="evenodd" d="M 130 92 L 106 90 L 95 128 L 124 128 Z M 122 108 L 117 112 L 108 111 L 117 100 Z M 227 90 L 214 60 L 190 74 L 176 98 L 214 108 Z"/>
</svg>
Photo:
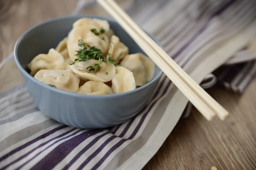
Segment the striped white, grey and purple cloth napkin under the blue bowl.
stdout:
<svg viewBox="0 0 256 170">
<path fill-rule="evenodd" d="M 256 37 L 255 1 L 147 2 L 130 8 L 137 11 L 131 16 L 198 84 Z M 140 170 L 188 103 L 163 75 L 137 116 L 115 127 L 87 130 L 58 123 L 38 110 L 12 57 L 0 65 L 0 82 L 1 169 Z"/>
</svg>

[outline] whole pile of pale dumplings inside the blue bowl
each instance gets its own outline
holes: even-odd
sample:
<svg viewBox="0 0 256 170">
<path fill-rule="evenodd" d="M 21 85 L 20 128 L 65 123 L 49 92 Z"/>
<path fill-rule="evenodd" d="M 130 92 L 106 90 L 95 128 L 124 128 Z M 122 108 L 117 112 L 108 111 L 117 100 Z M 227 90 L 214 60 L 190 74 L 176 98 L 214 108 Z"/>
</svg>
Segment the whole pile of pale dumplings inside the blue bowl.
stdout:
<svg viewBox="0 0 256 170">
<path fill-rule="evenodd" d="M 104 30 L 97 34 L 92 30 Z M 111 62 L 96 59 L 81 61 L 79 40 L 95 46 Z M 73 63 L 73 64 L 72 64 Z M 99 63 L 100 70 L 87 71 Z M 78 94 L 118 94 L 132 91 L 150 82 L 154 76 L 154 62 L 143 54 L 129 54 L 128 47 L 114 35 L 107 20 L 81 18 L 72 30 L 48 54 L 39 54 L 29 63 L 30 74 L 38 81 L 64 91 Z"/>
</svg>

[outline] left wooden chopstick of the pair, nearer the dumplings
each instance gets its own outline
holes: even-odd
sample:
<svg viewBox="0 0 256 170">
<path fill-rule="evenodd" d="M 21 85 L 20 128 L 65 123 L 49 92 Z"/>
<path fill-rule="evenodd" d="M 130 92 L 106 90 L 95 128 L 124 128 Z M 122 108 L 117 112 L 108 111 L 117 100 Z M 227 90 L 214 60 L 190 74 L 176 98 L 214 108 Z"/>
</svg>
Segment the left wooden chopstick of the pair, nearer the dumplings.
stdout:
<svg viewBox="0 0 256 170">
<path fill-rule="evenodd" d="M 109 2 L 109 1 L 108 1 Z M 124 21 L 120 14 L 116 12 L 115 8 L 111 6 L 107 1 L 98 0 L 98 3 L 105 8 L 118 22 L 119 24 L 130 34 L 135 42 L 145 51 L 145 53 L 160 67 L 163 72 L 174 82 L 174 84 L 182 91 L 183 94 L 192 102 L 193 105 L 210 120 L 215 115 L 211 108 L 183 82 L 182 79 L 166 64 L 166 62 L 154 51 L 143 38 L 141 38 L 132 28 Z M 201 87 L 200 87 L 201 88 Z"/>
</svg>

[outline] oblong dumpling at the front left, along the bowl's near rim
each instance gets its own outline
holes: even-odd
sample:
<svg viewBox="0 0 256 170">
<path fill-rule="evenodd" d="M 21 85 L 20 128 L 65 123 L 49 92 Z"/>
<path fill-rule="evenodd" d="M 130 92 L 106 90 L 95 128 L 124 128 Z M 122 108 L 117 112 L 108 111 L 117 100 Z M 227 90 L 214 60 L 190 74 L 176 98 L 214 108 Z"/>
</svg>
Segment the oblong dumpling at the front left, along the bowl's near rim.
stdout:
<svg viewBox="0 0 256 170">
<path fill-rule="evenodd" d="M 76 93 L 79 88 L 80 79 L 65 70 L 40 70 L 34 77 L 44 84 L 64 91 Z"/>
</svg>

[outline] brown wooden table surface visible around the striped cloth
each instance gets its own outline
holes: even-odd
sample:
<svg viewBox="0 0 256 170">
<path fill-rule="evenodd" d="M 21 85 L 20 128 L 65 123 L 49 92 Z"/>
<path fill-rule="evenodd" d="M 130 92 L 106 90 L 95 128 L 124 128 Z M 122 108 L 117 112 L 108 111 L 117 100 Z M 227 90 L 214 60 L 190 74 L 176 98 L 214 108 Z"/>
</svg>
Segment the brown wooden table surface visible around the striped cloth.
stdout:
<svg viewBox="0 0 256 170">
<path fill-rule="evenodd" d="M 29 27 L 69 15 L 76 0 L 0 0 L 0 62 Z M 87 11 L 91 13 L 92 11 Z M 178 122 L 145 170 L 256 170 L 256 80 L 240 96 L 219 88 L 208 90 L 230 116 L 208 122 L 193 110 Z"/>
</svg>

